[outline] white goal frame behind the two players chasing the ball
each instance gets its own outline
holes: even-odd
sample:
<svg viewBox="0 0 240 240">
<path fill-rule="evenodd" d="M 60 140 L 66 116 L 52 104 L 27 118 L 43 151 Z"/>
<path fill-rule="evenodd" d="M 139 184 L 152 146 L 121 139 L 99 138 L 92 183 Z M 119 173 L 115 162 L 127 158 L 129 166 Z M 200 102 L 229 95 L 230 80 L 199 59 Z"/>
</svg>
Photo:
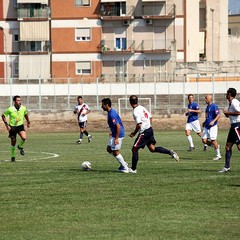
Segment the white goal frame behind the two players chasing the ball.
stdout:
<svg viewBox="0 0 240 240">
<path fill-rule="evenodd" d="M 152 114 L 151 98 L 138 98 L 138 104 L 143 105 Z M 129 98 L 118 98 L 118 114 L 121 117 L 122 110 L 130 109 Z"/>
</svg>

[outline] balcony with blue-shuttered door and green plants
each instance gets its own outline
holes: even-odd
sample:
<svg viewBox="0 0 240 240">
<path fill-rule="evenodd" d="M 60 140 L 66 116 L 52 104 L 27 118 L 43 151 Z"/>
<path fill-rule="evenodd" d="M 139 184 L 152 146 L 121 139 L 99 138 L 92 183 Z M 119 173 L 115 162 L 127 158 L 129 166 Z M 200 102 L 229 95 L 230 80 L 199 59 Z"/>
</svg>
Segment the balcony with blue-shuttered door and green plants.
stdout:
<svg viewBox="0 0 240 240">
<path fill-rule="evenodd" d="M 135 42 L 128 41 L 126 38 L 116 38 L 114 40 L 102 40 L 101 41 L 101 53 L 102 54 L 131 54 L 135 51 Z"/>
</svg>

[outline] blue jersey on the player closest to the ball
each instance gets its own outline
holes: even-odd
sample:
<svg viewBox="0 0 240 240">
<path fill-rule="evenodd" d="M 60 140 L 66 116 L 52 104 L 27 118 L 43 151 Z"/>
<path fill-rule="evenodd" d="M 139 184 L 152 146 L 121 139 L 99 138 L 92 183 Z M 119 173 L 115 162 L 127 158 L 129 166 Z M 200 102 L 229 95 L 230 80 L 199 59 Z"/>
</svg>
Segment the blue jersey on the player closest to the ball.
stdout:
<svg viewBox="0 0 240 240">
<path fill-rule="evenodd" d="M 122 120 L 115 109 L 111 108 L 108 112 L 108 125 L 112 132 L 112 137 L 116 137 L 116 124 L 120 125 L 120 133 L 119 137 L 124 137 L 124 127 L 122 124 Z"/>
</svg>

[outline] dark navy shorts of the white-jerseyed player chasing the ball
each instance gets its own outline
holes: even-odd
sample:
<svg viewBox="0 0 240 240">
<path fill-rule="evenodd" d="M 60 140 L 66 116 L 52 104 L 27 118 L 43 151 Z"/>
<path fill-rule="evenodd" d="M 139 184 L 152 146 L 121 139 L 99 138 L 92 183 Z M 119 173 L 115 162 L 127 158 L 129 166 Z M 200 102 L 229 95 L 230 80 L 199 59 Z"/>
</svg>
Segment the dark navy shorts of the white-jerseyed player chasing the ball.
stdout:
<svg viewBox="0 0 240 240">
<path fill-rule="evenodd" d="M 139 133 L 139 135 L 135 139 L 133 147 L 144 148 L 146 145 L 150 146 L 151 144 L 155 145 L 156 140 L 154 138 L 153 129 L 150 127 L 146 129 L 144 132 Z"/>
</svg>

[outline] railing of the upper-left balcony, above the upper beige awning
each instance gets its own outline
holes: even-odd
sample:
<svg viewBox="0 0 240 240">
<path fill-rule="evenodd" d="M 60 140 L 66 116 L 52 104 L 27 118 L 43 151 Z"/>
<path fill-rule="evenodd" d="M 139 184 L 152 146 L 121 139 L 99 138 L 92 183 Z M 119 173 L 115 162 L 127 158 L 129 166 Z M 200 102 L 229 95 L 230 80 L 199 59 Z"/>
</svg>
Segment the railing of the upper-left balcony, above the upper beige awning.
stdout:
<svg viewBox="0 0 240 240">
<path fill-rule="evenodd" d="M 50 8 L 19 8 L 18 19 L 23 18 L 50 18 Z"/>
</svg>

